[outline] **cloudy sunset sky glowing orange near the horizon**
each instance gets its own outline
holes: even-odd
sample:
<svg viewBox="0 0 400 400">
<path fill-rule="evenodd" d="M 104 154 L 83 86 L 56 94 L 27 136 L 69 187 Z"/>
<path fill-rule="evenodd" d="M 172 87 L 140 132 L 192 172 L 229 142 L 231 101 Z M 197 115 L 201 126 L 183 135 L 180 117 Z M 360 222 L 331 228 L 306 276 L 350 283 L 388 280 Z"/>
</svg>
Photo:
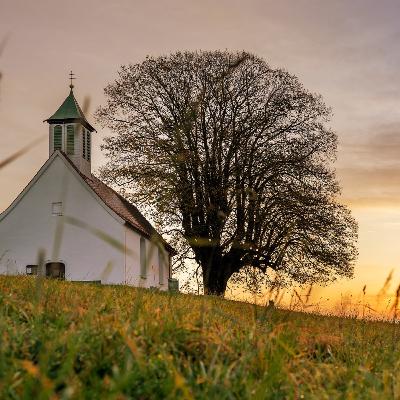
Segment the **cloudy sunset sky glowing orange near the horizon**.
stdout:
<svg viewBox="0 0 400 400">
<path fill-rule="evenodd" d="M 49 117 L 78 79 L 90 113 L 122 64 L 176 50 L 247 50 L 284 67 L 332 107 L 337 174 L 359 223 L 355 277 L 316 295 L 376 293 L 400 282 L 400 2 L 0 1 L 0 161 L 47 134 Z M 96 126 L 92 115 L 89 120 Z M 94 169 L 104 163 L 93 140 Z M 44 140 L 0 171 L 0 211 L 48 157 Z"/>
</svg>

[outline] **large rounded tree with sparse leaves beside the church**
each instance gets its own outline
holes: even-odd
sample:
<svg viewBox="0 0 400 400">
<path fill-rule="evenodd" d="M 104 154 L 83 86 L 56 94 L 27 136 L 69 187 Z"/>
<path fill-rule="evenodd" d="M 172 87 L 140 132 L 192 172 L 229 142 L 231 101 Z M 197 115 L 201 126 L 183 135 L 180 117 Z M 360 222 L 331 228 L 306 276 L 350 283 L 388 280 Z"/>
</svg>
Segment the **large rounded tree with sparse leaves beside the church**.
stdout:
<svg viewBox="0 0 400 400">
<path fill-rule="evenodd" d="M 121 67 L 105 93 L 102 176 L 179 235 L 205 293 L 248 268 L 299 283 L 353 274 L 330 109 L 295 76 L 246 52 L 178 52 Z"/>
</svg>

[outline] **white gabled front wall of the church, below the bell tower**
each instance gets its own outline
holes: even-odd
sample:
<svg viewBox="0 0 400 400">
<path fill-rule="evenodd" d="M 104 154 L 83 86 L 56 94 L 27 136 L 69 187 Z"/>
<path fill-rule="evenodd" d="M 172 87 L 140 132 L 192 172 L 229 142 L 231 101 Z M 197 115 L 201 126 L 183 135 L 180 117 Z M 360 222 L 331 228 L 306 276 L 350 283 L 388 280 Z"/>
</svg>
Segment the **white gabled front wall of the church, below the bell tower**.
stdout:
<svg viewBox="0 0 400 400">
<path fill-rule="evenodd" d="M 0 273 L 25 273 L 37 264 L 39 249 L 46 262 L 65 263 L 68 280 L 124 283 L 124 251 L 84 229 L 52 215 L 52 203 L 63 203 L 63 214 L 124 243 L 125 227 L 95 199 L 76 171 L 61 156 L 52 158 L 44 173 L 17 205 L 0 220 Z M 56 251 L 56 230 L 60 246 Z M 108 268 L 107 268 L 108 266 Z"/>
</svg>

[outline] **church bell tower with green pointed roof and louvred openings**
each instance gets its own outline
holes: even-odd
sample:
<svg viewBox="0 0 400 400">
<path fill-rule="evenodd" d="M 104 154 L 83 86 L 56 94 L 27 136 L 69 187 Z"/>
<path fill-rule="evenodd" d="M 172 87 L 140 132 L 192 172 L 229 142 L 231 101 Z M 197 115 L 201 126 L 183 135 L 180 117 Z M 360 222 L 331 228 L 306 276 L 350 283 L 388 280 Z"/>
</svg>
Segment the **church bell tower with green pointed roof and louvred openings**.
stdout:
<svg viewBox="0 0 400 400">
<path fill-rule="evenodd" d="M 70 73 L 70 92 L 58 110 L 45 122 L 49 124 L 49 157 L 59 150 L 86 176 L 91 175 L 92 133 L 95 129 L 87 121 L 74 96 Z"/>
</svg>

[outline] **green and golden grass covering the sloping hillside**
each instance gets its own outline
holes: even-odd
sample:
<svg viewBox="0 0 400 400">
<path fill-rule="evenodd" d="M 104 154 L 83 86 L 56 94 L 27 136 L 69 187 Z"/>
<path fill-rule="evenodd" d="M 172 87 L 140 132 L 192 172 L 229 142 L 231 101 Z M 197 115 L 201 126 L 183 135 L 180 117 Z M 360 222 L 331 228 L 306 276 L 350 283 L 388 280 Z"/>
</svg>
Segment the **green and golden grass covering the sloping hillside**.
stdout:
<svg viewBox="0 0 400 400">
<path fill-rule="evenodd" d="M 400 327 L 0 277 L 1 399 L 398 399 Z"/>
</svg>

